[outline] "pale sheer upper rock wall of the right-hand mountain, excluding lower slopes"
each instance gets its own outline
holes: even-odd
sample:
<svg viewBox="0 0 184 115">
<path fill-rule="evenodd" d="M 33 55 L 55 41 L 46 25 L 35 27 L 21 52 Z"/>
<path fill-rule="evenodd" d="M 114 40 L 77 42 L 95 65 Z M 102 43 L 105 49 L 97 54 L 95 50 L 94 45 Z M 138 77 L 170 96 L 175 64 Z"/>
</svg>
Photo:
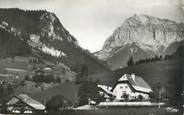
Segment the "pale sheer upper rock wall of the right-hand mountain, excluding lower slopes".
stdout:
<svg viewBox="0 0 184 115">
<path fill-rule="evenodd" d="M 134 15 L 127 18 L 113 35 L 105 42 L 103 49 L 121 47 L 126 44 L 144 44 L 153 46 L 152 50 L 164 46 L 165 48 L 173 41 L 183 39 L 184 24 L 160 19 L 145 14 Z M 170 36 L 176 34 L 177 37 Z"/>
</svg>

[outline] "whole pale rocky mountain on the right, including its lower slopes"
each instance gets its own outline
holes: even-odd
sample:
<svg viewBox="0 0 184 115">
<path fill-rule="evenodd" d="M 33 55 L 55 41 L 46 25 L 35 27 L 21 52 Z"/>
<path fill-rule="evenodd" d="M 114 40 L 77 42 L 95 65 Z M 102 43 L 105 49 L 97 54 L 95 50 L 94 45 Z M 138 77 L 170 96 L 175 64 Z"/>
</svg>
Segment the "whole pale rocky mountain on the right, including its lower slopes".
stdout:
<svg viewBox="0 0 184 115">
<path fill-rule="evenodd" d="M 95 55 L 102 60 L 113 63 L 121 63 L 115 68 L 124 66 L 130 55 L 135 60 L 147 58 L 154 55 L 165 55 L 169 52 L 167 48 L 174 42 L 184 39 L 184 24 L 176 23 L 167 19 L 159 19 L 147 15 L 134 15 L 124 21 L 114 33 L 105 41 L 101 51 Z M 126 51 L 122 51 L 125 50 Z M 141 51 L 142 50 L 142 51 Z M 144 56 L 137 56 L 139 51 Z M 172 50 L 174 51 L 174 50 Z M 126 52 L 129 56 L 121 57 L 121 60 L 112 61 L 117 55 L 121 56 Z M 129 52 L 129 53 L 127 53 Z M 119 57 L 120 58 L 120 57 Z M 115 64 L 116 65 L 116 64 Z"/>
</svg>

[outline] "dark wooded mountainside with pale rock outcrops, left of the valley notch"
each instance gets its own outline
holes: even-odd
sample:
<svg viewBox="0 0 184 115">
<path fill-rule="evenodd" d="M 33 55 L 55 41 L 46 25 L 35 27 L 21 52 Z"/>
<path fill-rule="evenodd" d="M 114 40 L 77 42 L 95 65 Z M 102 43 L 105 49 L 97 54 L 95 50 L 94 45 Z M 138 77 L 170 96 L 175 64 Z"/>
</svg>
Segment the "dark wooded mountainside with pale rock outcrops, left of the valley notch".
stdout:
<svg viewBox="0 0 184 115">
<path fill-rule="evenodd" d="M 0 9 L 0 32 L 0 57 L 36 53 L 39 58 L 63 62 L 72 70 L 78 71 L 85 64 L 90 73 L 108 71 L 103 62 L 78 45 L 51 12 Z"/>
</svg>

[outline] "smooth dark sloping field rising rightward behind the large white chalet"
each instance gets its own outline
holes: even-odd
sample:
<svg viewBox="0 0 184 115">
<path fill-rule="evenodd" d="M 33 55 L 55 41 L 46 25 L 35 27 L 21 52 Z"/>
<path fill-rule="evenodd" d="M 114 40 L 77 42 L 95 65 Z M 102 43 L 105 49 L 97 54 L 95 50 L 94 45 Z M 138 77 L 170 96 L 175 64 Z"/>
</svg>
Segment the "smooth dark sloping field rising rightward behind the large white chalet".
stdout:
<svg viewBox="0 0 184 115">
<path fill-rule="evenodd" d="M 133 67 L 114 70 L 113 72 L 90 75 L 94 80 L 113 85 L 124 74 L 134 73 L 142 77 L 152 88 L 182 83 L 182 58 L 143 63 Z"/>
</svg>

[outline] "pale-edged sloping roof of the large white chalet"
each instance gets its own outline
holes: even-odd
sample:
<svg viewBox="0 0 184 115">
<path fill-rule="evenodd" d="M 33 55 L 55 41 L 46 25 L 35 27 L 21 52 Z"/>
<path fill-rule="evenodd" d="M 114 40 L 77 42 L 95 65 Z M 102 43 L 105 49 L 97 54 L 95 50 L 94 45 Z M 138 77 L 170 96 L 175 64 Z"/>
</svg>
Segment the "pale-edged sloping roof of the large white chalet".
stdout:
<svg viewBox="0 0 184 115">
<path fill-rule="evenodd" d="M 130 85 L 136 90 L 141 92 L 150 93 L 152 92 L 151 87 L 139 76 L 135 74 L 124 74 L 118 82 L 128 81 Z"/>
</svg>

